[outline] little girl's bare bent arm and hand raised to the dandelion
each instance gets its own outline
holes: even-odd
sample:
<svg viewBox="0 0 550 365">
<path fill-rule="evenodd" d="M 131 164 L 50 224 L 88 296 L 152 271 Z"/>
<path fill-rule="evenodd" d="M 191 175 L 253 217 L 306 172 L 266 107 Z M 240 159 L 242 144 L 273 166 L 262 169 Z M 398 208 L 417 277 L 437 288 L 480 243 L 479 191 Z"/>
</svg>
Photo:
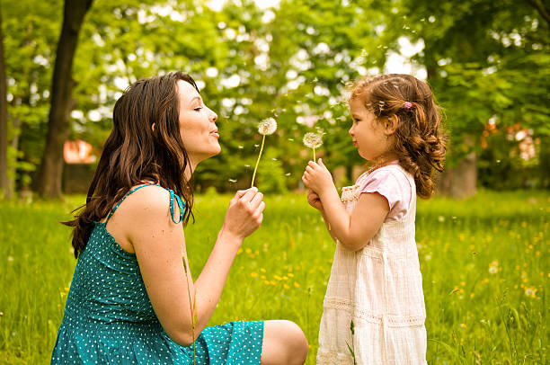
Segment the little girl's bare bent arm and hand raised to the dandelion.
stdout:
<svg viewBox="0 0 550 365">
<path fill-rule="evenodd" d="M 330 172 L 323 161 L 309 162 L 302 177 L 306 186 L 319 195 L 323 204 L 324 218 L 330 224 L 333 235 L 351 251 L 357 251 L 368 244 L 384 223 L 389 205 L 378 193 L 364 193 L 350 215 L 344 208 Z"/>
</svg>

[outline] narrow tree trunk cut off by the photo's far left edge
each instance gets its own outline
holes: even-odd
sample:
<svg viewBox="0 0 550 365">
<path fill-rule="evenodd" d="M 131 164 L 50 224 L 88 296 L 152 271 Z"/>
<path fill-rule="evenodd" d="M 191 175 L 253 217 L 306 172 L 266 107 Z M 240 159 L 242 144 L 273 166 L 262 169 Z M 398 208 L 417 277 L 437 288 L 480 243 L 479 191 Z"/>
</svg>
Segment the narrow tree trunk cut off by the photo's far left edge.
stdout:
<svg viewBox="0 0 550 365">
<path fill-rule="evenodd" d="M 0 4 L 1 6 L 1 4 Z M 2 9 L 0 8 L 0 192 L 6 199 L 12 197 L 13 182 L 8 177 L 8 118 L 7 83 L 4 63 L 4 34 L 2 33 Z"/>
</svg>

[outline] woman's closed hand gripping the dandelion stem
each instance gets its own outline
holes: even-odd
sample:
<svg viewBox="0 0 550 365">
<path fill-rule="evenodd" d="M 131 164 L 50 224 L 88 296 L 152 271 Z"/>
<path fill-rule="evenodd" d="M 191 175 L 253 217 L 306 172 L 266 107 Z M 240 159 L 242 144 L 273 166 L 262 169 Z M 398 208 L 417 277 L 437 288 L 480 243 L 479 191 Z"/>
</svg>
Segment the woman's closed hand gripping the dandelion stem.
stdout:
<svg viewBox="0 0 550 365">
<path fill-rule="evenodd" d="M 224 226 L 221 232 L 243 241 L 260 227 L 263 220 L 265 203 L 263 194 L 256 187 L 237 191 L 229 202 Z"/>
</svg>

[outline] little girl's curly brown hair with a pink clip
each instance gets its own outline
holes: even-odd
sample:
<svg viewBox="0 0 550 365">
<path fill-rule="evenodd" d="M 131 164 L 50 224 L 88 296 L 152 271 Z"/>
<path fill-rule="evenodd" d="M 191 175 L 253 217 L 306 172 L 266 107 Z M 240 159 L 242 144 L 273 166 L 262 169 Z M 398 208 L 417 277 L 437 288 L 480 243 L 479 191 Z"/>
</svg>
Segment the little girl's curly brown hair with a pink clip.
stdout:
<svg viewBox="0 0 550 365">
<path fill-rule="evenodd" d="M 414 177 L 417 194 L 429 199 L 435 190 L 434 170 L 443 171 L 447 142 L 430 86 L 410 75 L 366 77 L 352 86 L 350 100 L 357 98 L 378 120 L 397 116 L 392 149 Z"/>
</svg>

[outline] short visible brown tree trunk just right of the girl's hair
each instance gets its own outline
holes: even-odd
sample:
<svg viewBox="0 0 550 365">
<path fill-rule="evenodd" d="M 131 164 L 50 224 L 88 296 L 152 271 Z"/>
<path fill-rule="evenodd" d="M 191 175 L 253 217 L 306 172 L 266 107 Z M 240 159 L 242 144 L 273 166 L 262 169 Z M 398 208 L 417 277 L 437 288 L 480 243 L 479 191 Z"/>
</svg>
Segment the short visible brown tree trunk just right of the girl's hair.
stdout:
<svg viewBox="0 0 550 365">
<path fill-rule="evenodd" d="M 457 167 L 445 168 L 439 174 L 437 193 L 455 199 L 475 195 L 477 186 L 477 156 L 475 152 L 460 161 Z"/>
</svg>

